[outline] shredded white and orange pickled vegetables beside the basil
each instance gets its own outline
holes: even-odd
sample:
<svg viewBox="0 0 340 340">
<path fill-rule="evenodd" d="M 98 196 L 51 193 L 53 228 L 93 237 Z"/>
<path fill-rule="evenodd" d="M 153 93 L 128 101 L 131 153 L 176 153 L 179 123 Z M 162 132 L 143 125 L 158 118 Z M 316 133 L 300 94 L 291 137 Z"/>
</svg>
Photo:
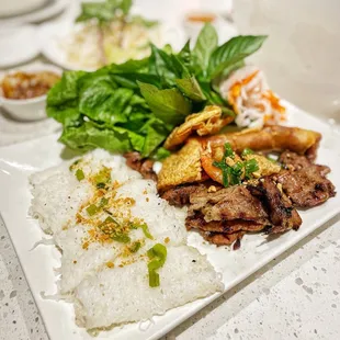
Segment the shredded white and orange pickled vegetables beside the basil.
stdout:
<svg viewBox="0 0 340 340">
<path fill-rule="evenodd" d="M 270 90 L 263 72 L 256 66 L 245 66 L 220 83 L 220 93 L 233 105 L 239 127 L 282 124 L 285 107 Z"/>
</svg>

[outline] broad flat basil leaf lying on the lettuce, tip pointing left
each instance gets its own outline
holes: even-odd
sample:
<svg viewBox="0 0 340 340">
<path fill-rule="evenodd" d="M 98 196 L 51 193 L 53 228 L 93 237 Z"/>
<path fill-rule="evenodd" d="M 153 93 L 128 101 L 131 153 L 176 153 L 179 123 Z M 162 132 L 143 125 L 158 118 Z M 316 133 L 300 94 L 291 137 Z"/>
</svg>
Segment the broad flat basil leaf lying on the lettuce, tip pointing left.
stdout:
<svg viewBox="0 0 340 340">
<path fill-rule="evenodd" d="M 149 83 L 138 84 L 155 116 L 162 122 L 175 126 L 191 113 L 191 102 L 178 89 L 158 90 Z"/>
</svg>

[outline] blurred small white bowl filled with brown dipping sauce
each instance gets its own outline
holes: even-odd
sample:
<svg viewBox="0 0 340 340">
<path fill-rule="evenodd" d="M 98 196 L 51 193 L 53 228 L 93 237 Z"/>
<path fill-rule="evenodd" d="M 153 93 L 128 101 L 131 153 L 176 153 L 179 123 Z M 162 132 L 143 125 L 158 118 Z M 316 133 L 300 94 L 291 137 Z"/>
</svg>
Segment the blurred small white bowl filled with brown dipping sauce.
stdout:
<svg viewBox="0 0 340 340">
<path fill-rule="evenodd" d="M 61 73 L 52 65 L 32 65 L 4 73 L 0 79 L 0 106 L 20 121 L 45 118 L 47 92 Z"/>
</svg>

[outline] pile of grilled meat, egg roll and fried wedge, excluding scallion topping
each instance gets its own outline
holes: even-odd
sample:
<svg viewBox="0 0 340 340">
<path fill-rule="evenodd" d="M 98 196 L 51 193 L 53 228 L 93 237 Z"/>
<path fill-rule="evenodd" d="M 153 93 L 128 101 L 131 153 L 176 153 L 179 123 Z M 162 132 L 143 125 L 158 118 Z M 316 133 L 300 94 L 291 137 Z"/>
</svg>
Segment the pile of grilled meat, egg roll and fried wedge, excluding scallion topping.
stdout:
<svg viewBox="0 0 340 340">
<path fill-rule="evenodd" d="M 246 233 L 297 230 L 302 218 L 296 208 L 310 208 L 336 195 L 326 178 L 330 169 L 315 163 L 320 137 L 315 132 L 272 126 L 189 139 L 163 162 L 159 193 L 172 205 L 188 205 L 186 229 L 199 230 L 218 246 L 234 243 L 237 249 Z M 263 152 L 274 150 L 276 166 L 262 167 L 257 177 L 225 188 L 214 166 L 217 149 L 225 143 L 236 155 L 251 147 L 259 160 L 264 159 Z"/>
</svg>

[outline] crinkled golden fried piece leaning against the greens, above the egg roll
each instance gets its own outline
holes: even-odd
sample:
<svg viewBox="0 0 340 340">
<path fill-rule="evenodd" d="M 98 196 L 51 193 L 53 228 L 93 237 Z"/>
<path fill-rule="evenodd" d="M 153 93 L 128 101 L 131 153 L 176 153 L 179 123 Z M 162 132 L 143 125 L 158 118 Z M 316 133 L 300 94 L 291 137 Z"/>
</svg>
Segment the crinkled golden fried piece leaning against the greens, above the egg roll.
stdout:
<svg viewBox="0 0 340 340">
<path fill-rule="evenodd" d="M 196 132 L 199 136 L 206 136 L 219 132 L 225 125 L 234 121 L 234 117 L 223 117 L 222 109 L 217 105 L 205 106 L 202 112 L 193 113 L 185 122 L 175 127 L 165 143 L 167 149 L 183 144 L 188 137 Z"/>
</svg>

